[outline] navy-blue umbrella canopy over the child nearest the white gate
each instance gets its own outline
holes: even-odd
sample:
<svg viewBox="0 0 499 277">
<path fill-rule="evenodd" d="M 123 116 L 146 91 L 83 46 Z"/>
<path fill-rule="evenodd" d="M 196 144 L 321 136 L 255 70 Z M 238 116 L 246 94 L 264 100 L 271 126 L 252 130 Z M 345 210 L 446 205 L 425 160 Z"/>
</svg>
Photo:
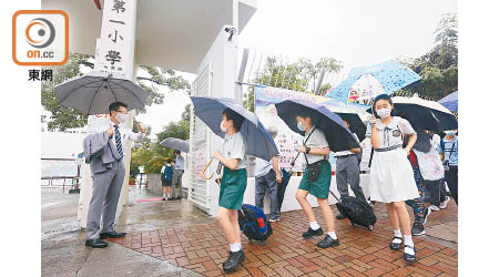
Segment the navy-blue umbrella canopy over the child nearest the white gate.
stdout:
<svg viewBox="0 0 499 277">
<path fill-rule="evenodd" d="M 200 117 L 216 135 L 224 137 L 220 129 L 222 112 L 230 107 L 245 119 L 241 126 L 241 134 L 246 140 L 246 154 L 271 161 L 278 154 L 274 138 L 267 133 L 256 114 L 240 105 L 233 99 L 191 96 L 194 114 Z"/>
</svg>

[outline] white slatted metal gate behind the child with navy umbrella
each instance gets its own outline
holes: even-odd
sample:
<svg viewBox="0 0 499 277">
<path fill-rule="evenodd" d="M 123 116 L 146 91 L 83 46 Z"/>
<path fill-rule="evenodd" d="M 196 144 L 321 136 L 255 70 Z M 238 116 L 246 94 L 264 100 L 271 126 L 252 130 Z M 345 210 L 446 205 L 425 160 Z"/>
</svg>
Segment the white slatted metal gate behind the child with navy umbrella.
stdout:
<svg viewBox="0 0 499 277">
<path fill-rule="evenodd" d="M 212 63 L 208 62 L 194 80 L 194 96 L 212 95 Z M 190 132 L 192 143 L 190 144 L 191 182 L 189 199 L 204 209 L 210 209 L 210 181 L 205 181 L 201 177 L 201 172 L 210 158 L 210 130 L 197 116 L 194 115 L 192 105 Z"/>
</svg>

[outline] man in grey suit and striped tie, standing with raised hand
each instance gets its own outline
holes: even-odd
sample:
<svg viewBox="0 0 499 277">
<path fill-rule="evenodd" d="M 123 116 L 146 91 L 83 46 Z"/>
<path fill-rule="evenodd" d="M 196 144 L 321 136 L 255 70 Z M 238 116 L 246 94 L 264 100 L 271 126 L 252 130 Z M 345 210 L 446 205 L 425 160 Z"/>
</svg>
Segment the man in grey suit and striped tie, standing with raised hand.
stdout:
<svg viewBox="0 0 499 277">
<path fill-rule="evenodd" d="M 86 246 L 103 248 L 102 239 L 123 237 L 126 233 L 113 229 L 118 201 L 125 175 L 124 156 L 129 140 L 142 141 L 145 127 L 139 124 L 140 133 L 126 127 L 126 104 L 114 102 L 109 106 L 111 123 L 106 131 L 90 134 L 83 142 L 85 162 L 90 163 L 93 192 L 86 217 Z M 102 218 L 102 229 L 101 229 Z"/>
</svg>

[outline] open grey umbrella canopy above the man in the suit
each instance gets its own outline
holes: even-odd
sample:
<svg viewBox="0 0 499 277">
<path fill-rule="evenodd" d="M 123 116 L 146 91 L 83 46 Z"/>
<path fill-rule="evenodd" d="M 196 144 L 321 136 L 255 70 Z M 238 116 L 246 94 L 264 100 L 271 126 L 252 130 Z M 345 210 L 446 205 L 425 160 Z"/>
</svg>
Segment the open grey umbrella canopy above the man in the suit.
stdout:
<svg viewBox="0 0 499 277">
<path fill-rule="evenodd" d="M 55 86 L 59 104 L 74 107 L 86 114 L 109 113 L 109 105 L 122 102 L 129 110 L 143 107 L 150 93 L 130 80 L 112 78 L 101 71 L 92 71 Z"/>
</svg>

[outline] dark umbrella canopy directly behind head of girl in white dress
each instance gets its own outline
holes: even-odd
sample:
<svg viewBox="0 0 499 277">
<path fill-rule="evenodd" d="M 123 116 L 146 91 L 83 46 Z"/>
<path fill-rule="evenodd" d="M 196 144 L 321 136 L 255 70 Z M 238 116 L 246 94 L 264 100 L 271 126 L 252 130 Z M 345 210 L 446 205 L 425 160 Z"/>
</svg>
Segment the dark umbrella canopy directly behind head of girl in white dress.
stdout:
<svg viewBox="0 0 499 277">
<path fill-rule="evenodd" d="M 417 95 L 413 98 L 396 96 L 391 100 L 398 115 L 408 120 L 416 131 L 442 132 L 458 127 L 456 116 L 435 101 L 424 100 Z"/>
</svg>

